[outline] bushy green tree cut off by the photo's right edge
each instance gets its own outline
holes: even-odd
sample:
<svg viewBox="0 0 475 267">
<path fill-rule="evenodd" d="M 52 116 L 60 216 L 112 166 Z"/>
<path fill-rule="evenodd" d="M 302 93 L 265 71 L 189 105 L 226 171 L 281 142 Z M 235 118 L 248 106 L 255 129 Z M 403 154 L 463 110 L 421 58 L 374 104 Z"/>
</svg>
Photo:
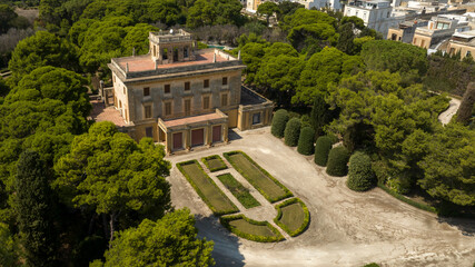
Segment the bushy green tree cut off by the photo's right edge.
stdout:
<svg viewBox="0 0 475 267">
<path fill-rule="evenodd" d="M 427 140 L 428 154 L 418 162 L 422 188 L 459 206 L 475 206 L 475 132 L 448 123 Z"/>
</svg>

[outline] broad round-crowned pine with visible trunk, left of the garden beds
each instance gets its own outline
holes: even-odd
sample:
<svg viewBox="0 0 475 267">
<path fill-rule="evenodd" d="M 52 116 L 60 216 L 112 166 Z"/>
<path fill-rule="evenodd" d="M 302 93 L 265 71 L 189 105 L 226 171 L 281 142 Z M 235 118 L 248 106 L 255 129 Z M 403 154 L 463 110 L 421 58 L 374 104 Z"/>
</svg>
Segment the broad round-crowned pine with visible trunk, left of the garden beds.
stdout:
<svg viewBox="0 0 475 267">
<path fill-rule="evenodd" d="M 61 197 L 75 207 L 91 207 L 97 214 L 160 218 L 170 208 L 170 186 L 165 177 L 170 164 L 162 146 L 150 138 L 135 142 L 118 132 L 112 122 L 97 122 L 75 138 L 71 152 L 55 166 L 53 182 Z"/>
</svg>

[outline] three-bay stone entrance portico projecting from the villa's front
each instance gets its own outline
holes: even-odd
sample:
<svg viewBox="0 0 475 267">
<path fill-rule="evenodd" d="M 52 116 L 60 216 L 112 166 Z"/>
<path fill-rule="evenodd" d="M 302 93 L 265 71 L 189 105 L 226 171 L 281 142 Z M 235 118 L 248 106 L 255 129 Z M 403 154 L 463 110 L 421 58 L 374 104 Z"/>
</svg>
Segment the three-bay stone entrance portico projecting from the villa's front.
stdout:
<svg viewBox="0 0 475 267">
<path fill-rule="evenodd" d="M 216 109 L 214 113 L 162 120 L 158 118 L 159 141 L 167 154 L 190 150 L 228 141 L 228 116 Z"/>
</svg>

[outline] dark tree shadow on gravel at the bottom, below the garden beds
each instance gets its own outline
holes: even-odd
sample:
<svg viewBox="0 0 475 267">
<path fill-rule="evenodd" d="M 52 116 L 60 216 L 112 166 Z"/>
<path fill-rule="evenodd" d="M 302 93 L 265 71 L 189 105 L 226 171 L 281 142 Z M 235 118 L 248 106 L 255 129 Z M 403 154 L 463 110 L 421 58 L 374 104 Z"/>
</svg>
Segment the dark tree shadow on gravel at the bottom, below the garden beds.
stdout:
<svg viewBox="0 0 475 267">
<path fill-rule="evenodd" d="M 225 229 L 215 216 L 195 216 L 198 236 L 215 243 L 212 258 L 216 266 L 244 266 L 244 255 L 239 251 L 239 238 Z"/>
</svg>

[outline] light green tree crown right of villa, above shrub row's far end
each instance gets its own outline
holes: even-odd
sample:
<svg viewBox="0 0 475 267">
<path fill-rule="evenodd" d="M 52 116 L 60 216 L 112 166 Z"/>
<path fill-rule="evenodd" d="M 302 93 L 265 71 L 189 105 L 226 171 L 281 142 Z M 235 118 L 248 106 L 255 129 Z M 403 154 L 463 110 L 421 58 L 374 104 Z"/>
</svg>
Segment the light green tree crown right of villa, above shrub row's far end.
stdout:
<svg viewBox="0 0 475 267">
<path fill-rule="evenodd" d="M 291 101 L 311 105 L 317 95 L 327 95 L 327 85 L 356 73 L 363 68 L 359 57 L 350 57 L 336 48 L 324 48 L 308 60 L 300 73 Z"/>
</svg>

